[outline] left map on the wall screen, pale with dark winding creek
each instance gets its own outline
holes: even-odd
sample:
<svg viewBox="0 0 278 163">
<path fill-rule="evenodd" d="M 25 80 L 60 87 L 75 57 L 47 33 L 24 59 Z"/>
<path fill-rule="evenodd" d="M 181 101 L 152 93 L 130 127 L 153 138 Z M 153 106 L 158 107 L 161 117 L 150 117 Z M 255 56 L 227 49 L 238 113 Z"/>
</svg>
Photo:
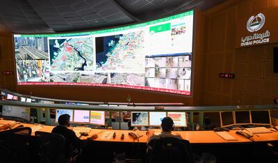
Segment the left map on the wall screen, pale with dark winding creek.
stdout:
<svg viewBox="0 0 278 163">
<path fill-rule="evenodd" d="M 91 37 L 49 39 L 51 71 L 92 71 L 93 50 Z"/>
</svg>

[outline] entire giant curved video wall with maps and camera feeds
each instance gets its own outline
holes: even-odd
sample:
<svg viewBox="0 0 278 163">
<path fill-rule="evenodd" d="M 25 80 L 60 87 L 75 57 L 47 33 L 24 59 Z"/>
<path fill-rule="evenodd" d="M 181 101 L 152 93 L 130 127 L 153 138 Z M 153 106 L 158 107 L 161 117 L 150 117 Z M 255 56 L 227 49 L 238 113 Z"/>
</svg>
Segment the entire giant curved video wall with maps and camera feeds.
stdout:
<svg viewBox="0 0 278 163">
<path fill-rule="evenodd" d="M 17 84 L 191 95 L 193 13 L 99 31 L 16 34 Z"/>
</svg>

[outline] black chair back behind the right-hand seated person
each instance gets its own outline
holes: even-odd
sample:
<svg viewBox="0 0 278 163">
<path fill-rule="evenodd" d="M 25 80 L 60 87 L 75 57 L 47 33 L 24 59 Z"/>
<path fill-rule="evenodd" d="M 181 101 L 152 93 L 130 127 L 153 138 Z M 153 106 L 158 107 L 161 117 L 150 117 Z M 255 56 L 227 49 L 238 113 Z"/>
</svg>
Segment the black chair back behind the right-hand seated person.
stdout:
<svg viewBox="0 0 278 163">
<path fill-rule="evenodd" d="M 149 162 L 152 163 L 180 163 L 180 162 L 193 162 L 193 155 L 190 148 L 190 143 L 187 140 L 177 139 L 174 137 L 163 137 L 153 139 L 149 142 L 152 146 L 148 150 Z"/>
</svg>

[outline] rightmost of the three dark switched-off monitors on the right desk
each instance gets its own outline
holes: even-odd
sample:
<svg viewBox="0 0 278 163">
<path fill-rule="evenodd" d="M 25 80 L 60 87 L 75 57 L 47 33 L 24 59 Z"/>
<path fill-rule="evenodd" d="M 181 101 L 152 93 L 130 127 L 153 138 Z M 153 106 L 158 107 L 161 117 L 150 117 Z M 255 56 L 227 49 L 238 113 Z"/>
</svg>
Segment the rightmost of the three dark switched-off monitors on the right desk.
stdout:
<svg viewBox="0 0 278 163">
<path fill-rule="evenodd" d="M 257 125 L 270 125 L 270 111 L 251 111 L 252 123 Z"/>
</svg>

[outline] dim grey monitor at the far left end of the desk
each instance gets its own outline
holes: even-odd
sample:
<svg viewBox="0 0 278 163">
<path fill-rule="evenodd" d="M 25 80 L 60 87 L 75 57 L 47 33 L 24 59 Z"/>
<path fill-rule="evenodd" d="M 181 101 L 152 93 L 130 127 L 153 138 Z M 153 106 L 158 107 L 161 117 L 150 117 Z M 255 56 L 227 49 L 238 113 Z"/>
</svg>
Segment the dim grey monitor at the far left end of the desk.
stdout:
<svg viewBox="0 0 278 163">
<path fill-rule="evenodd" d="M 2 115 L 7 117 L 21 118 L 26 121 L 30 121 L 30 108 L 4 105 Z"/>
</svg>

